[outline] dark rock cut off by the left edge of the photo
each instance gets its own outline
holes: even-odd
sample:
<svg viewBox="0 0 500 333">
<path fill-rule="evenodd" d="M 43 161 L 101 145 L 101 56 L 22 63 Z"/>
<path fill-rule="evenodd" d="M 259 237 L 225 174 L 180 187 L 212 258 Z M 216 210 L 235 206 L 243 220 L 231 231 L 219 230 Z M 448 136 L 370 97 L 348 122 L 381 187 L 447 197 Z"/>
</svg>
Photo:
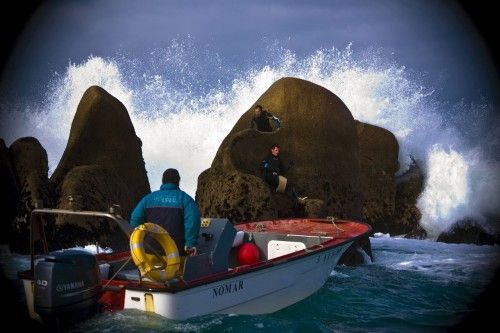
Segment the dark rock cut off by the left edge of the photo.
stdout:
<svg viewBox="0 0 500 333">
<path fill-rule="evenodd" d="M 0 235 L 0 244 L 9 242 L 12 237 L 14 218 L 19 204 L 19 188 L 5 142 L 0 139 L 0 211 L 4 223 L 4 232 Z"/>
</svg>

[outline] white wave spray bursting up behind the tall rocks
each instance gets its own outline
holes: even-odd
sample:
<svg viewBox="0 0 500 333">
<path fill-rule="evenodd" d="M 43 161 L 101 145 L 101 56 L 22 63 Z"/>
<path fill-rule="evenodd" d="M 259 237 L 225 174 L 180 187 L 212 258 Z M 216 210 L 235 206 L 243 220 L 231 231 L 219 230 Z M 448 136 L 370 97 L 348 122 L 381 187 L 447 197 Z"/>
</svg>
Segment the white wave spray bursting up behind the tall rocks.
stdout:
<svg viewBox="0 0 500 333">
<path fill-rule="evenodd" d="M 480 107 L 454 106 L 450 115 L 450 106 L 437 102 L 435 92 L 404 67 L 384 63 L 376 54 L 355 56 L 350 46 L 317 50 L 303 58 L 274 46 L 266 64 L 233 72 L 216 54 L 205 55 L 210 58 L 204 60 L 207 68 L 200 65 L 196 49 L 189 41 L 174 41 L 144 59 L 91 56 L 70 64 L 65 73 L 55 76 L 42 103 L 24 105 L 23 112 L 10 114 L 2 133 L 7 143 L 26 135 L 39 138 L 48 151 L 52 172 L 64 150 L 78 101 L 85 89 L 97 84 L 129 110 L 143 142 L 152 189 L 159 187 L 165 168 L 176 167 L 181 186 L 194 194 L 198 175 L 210 166 L 241 114 L 274 81 L 294 76 L 333 91 L 356 119 L 395 133 L 402 170 L 409 154 L 425 163 L 427 181 L 419 208 L 431 235 L 459 218 L 481 219 L 499 211 L 498 162 L 483 154 L 483 142 L 465 140 L 451 121 L 463 117 L 461 124 L 474 122 L 480 114 L 473 111 Z"/>
</svg>

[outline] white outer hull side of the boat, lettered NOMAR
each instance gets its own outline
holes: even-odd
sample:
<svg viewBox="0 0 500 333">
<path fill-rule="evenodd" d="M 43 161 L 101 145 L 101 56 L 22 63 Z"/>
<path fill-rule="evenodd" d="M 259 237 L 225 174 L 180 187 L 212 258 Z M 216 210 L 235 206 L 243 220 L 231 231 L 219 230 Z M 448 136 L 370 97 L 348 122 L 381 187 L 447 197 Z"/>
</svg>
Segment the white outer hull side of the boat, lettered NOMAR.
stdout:
<svg viewBox="0 0 500 333">
<path fill-rule="evenodd" d="M 290 306 L 320 289 L 352 242 L 292 261 L 180 292 L 125 291 L 125 309 L 154 312 L 174 320 L 212 313 L 264 314 Z"/>
</svg>

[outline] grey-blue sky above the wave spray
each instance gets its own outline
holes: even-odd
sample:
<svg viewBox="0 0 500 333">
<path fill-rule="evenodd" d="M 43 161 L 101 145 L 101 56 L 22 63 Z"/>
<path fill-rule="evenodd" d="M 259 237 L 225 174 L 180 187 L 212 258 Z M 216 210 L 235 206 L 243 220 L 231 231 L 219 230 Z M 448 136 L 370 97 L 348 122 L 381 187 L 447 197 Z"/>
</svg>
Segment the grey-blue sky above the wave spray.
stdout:
<svg viewBox="0 0 500 333">
<path fill-rule="evenodd" d="M 298 56 L 352 43 L 418 73 L 446 100 L 498 99 L 498 70 L 466 13 L 431 0 L 47 1 L 12 50 L 0 98 L 40 96 L 90 55 L 141 58 L 179 38 L 243 69 L 272 43 Z"/>
</svg>

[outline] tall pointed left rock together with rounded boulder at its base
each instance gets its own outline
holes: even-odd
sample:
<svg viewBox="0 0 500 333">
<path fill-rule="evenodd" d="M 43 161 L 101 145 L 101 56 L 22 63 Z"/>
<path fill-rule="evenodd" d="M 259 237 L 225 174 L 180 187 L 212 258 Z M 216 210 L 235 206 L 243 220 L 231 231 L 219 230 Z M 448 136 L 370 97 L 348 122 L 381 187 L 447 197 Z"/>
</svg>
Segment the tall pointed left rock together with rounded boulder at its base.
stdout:
<svg viewBox="0 0 500 333">
<path fill-rule="evenodd" d="M 142 196 L 150 192 L 141 146 L 125 106 L 100 87 L 87 89 L 64 154 L 50 179 L 57 206 L 106 211 L 117 204 L 121 215 L 128 218 Z M 57 224 L 59 228 L 85 225 L 81 219 L 68 217 L 59 218 Z M 103 241 L 113 233 L 102 228 L 108 226 L 92 230 L 96 240 Z"/>
</svg>

